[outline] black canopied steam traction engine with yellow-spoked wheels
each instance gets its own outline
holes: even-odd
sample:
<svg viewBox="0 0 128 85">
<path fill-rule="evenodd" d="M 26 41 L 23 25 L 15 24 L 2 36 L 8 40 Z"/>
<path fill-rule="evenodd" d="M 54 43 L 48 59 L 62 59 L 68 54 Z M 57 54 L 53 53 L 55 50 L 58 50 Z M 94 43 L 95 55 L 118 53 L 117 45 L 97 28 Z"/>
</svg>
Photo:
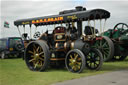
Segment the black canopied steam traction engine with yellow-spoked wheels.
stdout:
<svg viewBox="0 0 128 85">
<path fill-rule="evenodd" d="M 99 17 L 101 16 L 101 17 Z M 31 41 L 25 50 L 25 62 L 32 71 L 44 71 L 49 66 L 64 67 L 80 73 L 85 67 L 99 70 L 102 53 L 91 48 L 93 40 L 82 34 L 82 21 L 107 19 L 110 13 L 103 9 L 86 10 L 81 6 L 60 12 L 59 15 L 17 20 L 14 24 L 38 26 L 55 25 L 52 33 L 47 30 L 38 40 Z M 64 26 L 64 25 L 65 26 Z M 76 24 L 76 26 L 75 26 Z"/>
</svg>

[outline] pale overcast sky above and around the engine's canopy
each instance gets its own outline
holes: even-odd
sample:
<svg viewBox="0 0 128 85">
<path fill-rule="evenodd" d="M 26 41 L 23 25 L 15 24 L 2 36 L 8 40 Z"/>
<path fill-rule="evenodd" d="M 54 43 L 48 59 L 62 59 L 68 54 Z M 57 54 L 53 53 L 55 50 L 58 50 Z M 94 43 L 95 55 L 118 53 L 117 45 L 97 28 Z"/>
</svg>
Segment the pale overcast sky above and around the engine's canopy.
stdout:
<svg viewBox="0 0 128 85">
<path fill-rule="evenodd" d="M 106 29 L 112 29 L 119 22 L 128 24 L 128 0 L 1 0 L 0 37 L 20 36 L 13 23 L 15 20 L 58 14 L 59 11 L 73 9 L 79 5 L 87 10 L 102 8 L 111 12 Z M 4 28 L 4 21 L 9 22 L 10 28 Z M 35 27 L 32 29 L 34 33 Z M 20 30 L 23 32 L 23 27 L 20 27 Z M 43 29 L 41 27 L 37 30 Z M 29 33 L 29 27 L 26 27 L 26 32 Z"/>
</svg>

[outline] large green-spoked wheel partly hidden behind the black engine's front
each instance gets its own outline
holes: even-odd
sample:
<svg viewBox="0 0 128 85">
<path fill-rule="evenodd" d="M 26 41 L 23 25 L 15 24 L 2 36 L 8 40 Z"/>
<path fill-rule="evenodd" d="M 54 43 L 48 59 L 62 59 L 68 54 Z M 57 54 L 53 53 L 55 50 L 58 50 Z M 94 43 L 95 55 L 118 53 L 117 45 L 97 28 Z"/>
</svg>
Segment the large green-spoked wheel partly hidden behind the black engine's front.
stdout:
<svg viewBox="0 0 128 85">
<path fill-rule="evenodd" d="M 110 38 L 103 36 L 102 40 L 96 41 L 95 47 L 102 52 L 104 61 L 112 59 L 114 55 L 114 44 Z"/>
</svg>

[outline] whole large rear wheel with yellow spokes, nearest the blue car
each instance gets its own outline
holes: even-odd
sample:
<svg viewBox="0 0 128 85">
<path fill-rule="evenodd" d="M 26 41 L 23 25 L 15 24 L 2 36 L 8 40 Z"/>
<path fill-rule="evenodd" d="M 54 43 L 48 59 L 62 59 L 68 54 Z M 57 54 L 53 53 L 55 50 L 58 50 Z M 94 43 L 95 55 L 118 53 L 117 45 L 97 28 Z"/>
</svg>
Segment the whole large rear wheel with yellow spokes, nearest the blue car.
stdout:
<svg viewBox="0 0 128 85">
<path fill-rule="evenodd" d="M 25 50 L 25 61 L 32 71 L 44 71 L 50 62 L 50 52 L 44 41 L 32 41 Z"/>
</svg>

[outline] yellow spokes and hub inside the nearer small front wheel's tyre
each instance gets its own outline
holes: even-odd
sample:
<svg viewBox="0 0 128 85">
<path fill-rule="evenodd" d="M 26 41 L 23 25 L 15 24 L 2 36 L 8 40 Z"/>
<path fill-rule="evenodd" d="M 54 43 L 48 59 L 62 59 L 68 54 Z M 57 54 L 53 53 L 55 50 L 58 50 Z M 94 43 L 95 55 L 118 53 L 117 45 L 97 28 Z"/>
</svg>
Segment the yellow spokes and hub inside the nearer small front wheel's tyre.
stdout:
<svg viewBox="0 0 128 85">
<path fill-rule="evenodd" d="M 68 67 L 72 72 L 78 72 L 81 69 L 82 59 L 78 53 L 72 52 L 68 55 Z"/>
</svg>

